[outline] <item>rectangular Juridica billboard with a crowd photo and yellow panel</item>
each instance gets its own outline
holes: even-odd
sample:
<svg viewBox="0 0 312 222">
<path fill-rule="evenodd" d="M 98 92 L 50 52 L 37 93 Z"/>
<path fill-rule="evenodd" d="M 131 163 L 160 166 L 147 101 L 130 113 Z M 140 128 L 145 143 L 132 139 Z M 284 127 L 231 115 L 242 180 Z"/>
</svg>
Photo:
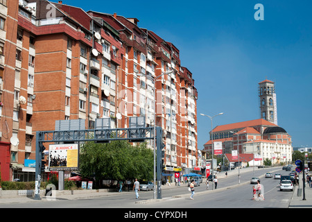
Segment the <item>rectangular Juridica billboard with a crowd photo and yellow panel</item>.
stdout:
<svg viewBox="0 0 312 222">
<path fill-rule="evenodd" d="M 78 144 L 53 144 L 49 146 L 49 169 L 78 169 Z"/>
</svg>

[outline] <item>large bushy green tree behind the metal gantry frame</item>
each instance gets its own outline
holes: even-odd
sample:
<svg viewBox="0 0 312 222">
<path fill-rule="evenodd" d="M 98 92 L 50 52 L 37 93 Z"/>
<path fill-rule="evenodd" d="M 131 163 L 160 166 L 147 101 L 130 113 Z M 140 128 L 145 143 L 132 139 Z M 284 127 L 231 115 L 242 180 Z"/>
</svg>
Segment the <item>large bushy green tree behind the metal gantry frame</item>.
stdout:
<svg viewBox="0 0 312 222">
<path fill-rule="evenodd" d="M 153 178 L 153 151 L 146 147 L 146 143 L 132 146 L 127 141 L 87 142 L 81 148 L 79 164 L 82 176 L 92 176 L 96 181 L 103 178 Z"/>
</svg>

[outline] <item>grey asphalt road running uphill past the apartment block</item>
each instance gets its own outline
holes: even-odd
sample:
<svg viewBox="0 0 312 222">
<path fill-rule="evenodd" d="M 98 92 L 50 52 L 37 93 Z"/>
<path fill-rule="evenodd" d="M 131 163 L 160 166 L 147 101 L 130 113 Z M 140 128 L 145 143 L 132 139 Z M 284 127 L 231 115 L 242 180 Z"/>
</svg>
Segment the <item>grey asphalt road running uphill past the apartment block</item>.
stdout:
<svg viewBox="0 0 312 222">
<path fill-rule="evenodd" d="M 122 195 L 103 196 L 98 198 L 80 199 L 80 200 L 51 200 L 38 201 L 32 203 L 12 203 L 1 205 L 1 208 L 286 208 L 289 205 L 293 192 L 279 191 L 279 180 L 274 178 L 261 178 L 261 184 L 264 187 L 264 196 L 266 200 L 252 200 L 252 185 L 250 178 L 254 176 L 263 176 L 266 172 L 263 170 L 250 171 L 241 176 L 241 186 L 232 187 L 238 184 L 238 177 L 221 178 L 217 189 L 212 189 L 210 182 L 209 190 L 202 183 L 196 187 L 194 200 L 188 195 L 181 198 L 172 198 L 180 194 L 190 194 L 187 187 L 174 187 L 173 189 L 163 189 L 162 198 L 159 202 L 138 204 L 135 203 L 135 193 L 133 191 L 123 191 Z M 286 171 L 276 171 L 287 175 Z M 274 175 L 273 173 L 273 175 Z M 247 182 L 247 183 L 246 183 Z M 227 189 L 220 189 L 229 187 Z M 191 194 L 190 194 L 191 195 Z M 153 191 L 140 191 L 140 200 L 153 199 Z"/>
</svg>

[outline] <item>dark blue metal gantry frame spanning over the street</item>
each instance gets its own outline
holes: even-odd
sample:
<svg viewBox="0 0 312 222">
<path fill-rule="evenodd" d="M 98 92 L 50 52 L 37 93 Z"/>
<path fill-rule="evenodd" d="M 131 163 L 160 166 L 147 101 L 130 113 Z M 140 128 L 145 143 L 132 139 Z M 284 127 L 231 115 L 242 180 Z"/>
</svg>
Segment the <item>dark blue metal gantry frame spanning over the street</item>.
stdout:
<svg viewBox="0 0 312 222">
<path fill-rule="evenodd" d="M 156 127 L 157 148 L 157 199 L 162 199 L 162 128 Z M 36 132 L 36 165 L 35 165 L 35 200 L 40 198 L 40 181 L 42 178 L 42 153 L 46 148 L 43 143 L 50 142 L 110 142 L 114 140 L 129 140 L 141 142 L 146 139 L 154 139 L 154 127 L 138 128 L 98 128 L 86 130 L 49 130 Z"/>
</svg>

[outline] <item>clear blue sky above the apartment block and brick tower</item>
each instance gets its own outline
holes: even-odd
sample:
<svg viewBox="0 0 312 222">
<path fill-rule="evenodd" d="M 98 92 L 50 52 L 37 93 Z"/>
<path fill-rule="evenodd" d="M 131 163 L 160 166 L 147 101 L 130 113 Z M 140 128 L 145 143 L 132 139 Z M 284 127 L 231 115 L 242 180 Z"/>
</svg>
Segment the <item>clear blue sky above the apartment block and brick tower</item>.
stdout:
<svg viewBox="0 0 312 222">
<path fill-rule="evenodd" d="M 312 1 L 80 1 L 64 4 L 136 17 L 180 50 L 198 89 L 198 148 L 214 126 L 260 118 L 258 83 L 275 82 L 278 125 L 312 146 Z M 254 6 L 264 6 L 256 21 Z"/>
</svg>

